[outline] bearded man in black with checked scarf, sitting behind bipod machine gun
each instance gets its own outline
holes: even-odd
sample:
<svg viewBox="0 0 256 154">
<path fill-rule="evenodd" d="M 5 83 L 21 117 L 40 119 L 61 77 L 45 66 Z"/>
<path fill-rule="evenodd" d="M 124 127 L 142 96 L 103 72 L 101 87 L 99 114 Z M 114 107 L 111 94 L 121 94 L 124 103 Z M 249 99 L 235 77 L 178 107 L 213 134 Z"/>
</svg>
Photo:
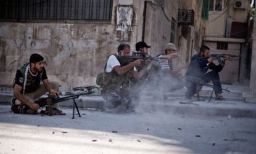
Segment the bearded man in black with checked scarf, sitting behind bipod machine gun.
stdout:
<svg viewBox="0 0 256 154">
<path fill-rule="evenodd" d="M 54 96 L 58 94 L 59 84 L 57 82 L 49 82 L 46 70 L 44 69 L 44 63 L 44 58 L 41 55 L 32 54 L 30 62 L 25 63 L 17 70 L 14 79 L 15 98 L 11 100 L 12 111 L 14 111 L 15 105 L 19 107 L 27 105 L 29 108 L 25 112 L 35 114 L 39 108 L 39 105 L 34 103 L 35 99 L 46 94 L 46 92 Z M 54 112 L 56 114 L 62 113 L 57 107 L 59 107 L 59 103 L 53 105 Z"/>
</svg>

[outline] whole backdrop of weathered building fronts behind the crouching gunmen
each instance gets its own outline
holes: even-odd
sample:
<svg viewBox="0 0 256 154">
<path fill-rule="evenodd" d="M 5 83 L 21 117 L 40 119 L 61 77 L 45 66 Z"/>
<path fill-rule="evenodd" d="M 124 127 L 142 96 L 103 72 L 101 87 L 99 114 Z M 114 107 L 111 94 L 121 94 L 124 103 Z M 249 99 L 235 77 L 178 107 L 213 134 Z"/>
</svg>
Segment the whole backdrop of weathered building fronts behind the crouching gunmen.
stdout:
<svg viewBox="0 0 256 154">
<path fill-rule="evenodd" d="M 214 54 L 241 55 L 221 71 L 226 84 L 249 85 L 249 0 L 0 0 L 0 85 L 38 53 L 47 75 L 60 85 L 94 85 L 120 43 L 135 50 L 149 44 L 152 56 L 174 43 L 189 63 L 205 44 Z M 253 28 L 251 28 L 253 29 Z M 252 50 L 253 51 L 253 50 Z M 184 73 L 184 72 L 183 72 Z M 254 78 L 254 77 L 250 77 Z"/>
</svg>

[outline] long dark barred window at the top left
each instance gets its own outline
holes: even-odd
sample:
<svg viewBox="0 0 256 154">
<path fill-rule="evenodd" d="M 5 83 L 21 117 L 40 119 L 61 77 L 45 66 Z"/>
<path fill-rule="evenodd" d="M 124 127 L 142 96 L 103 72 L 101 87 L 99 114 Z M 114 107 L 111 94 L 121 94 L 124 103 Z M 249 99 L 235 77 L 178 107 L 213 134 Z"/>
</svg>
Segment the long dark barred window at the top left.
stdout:
<svg viewBox="0 0 256 154">
<path fill-rule="evenodd" d="M 113 0 L 0 0 L 1 22 L 111 20 Z M 49 21 L 51 22 L 51 21 Z"/>
</svg>

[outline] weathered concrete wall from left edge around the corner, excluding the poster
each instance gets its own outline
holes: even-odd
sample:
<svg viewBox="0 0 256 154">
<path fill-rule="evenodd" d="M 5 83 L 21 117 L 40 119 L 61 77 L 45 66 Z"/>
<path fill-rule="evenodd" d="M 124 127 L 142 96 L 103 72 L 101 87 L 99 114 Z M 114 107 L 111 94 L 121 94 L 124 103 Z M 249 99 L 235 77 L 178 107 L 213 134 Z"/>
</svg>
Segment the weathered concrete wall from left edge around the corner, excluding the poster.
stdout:
<svg viewBox="0 0 256 154">
<path fill-rule="evenodd" d="M 134 50 L 141 41 L 144 1 L 133 1 L 131 30 L 116 30 L 114 0 L 111 23 L 0 23 L 0 85 L 11 85 L 15 71 L 27 62 L 30 55 L 39 53 L 46 60 L 50 79 L 61 85 L 94 85 L 97 73 L 104 69 L 109 54 L 117 51 L 120 43 L 128 43 Z M 163 5 L 168 18 L 178 21 L 178 9 L 194 9 L 194 26 L 189 26 L 188 38 L 181 36 L 181 26 L 176 23 L 175 44 L 181 51 L 181 61 L 188 62 L 202 42 L 200 19 L 202 1 L 155 0 L 147 4 L 145 41 L 151 45 L 151 55 L 163 52 L 170 42 L 171 23 L 160 7 Z M 195 41 L 194 41 L 195 40 Z"/>
</svg>

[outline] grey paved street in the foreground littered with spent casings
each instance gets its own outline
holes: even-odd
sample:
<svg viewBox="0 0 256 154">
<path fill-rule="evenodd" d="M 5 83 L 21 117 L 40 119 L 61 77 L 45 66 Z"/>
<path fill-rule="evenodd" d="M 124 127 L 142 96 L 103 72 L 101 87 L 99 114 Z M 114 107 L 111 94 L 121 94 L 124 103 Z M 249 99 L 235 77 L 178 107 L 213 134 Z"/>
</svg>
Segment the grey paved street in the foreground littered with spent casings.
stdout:
<svg viewBox="0 0 256 154">
<path fill-rule="evenodd" d="M 256 153 L 256 119 L 105 113 L 15 115 L 0 105 L 0 153 Z"/>
</svg>

